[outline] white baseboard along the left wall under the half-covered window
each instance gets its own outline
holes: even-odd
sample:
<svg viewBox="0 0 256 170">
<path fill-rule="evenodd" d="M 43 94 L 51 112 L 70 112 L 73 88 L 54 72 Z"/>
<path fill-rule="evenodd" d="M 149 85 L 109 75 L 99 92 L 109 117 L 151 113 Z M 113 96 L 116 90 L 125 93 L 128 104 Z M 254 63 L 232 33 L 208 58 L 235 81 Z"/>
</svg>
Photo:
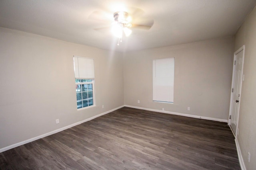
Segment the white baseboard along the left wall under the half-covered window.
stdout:
<svg viewBox="0 0 256 170">
<path fill-rule="evenodd" d="M 73 123 L 72 125 L 68 125 L 68 126 L 65 126 L 65 127 L 60 128 L 60 129 L 56 129 L 56 130 L 54 130 L 54 131 L 45 133 L 45 134 L 43 134 L 43 135 L 39 135 L 39 136 L 37 136 L 37 137 L 33 137 L 33 138 L 31 138 L 31 139 L 27 139 L 27 140 L 22 141 L 22 142 L 19 142 L 19 143 L 15 143 L 15 144 L 10 145 L 10 146 L 8 146 L 8 147 L 1 148 L 1 149 L 0 149 L 0 153 L 1 153 L 1 152 L 4 152 L 4 151 L 6 151 L 6 150 L 9 150 L 9 149 L 13 149 L 13 148 L 15 148 L 15 147 L 18 147 L 18 146 L 20 146 L 20 145 L 24 145 L 24 144 L 26 144 L 26 143 L 30 143 L 30 142 L 32 142 L 32 141 L 36 141 L 36 140 L 41 139 L 41 138 L 43 138 L 43 137 L 47 137 L 47 136 L 52 135 L 52 134 L 54 134 L 54 133 L 58 133 L 58 132 L 60 132 L 60 131 L 64 131 L 64 130 L 70 128 L 70 127 L 74 127 L 74 126 L 76 126 L 76 125 L 80 125 L 81 123 L 84 123 L 84 122 L 86 122 L 86 121 L 90 121 L 90 120 L 92 120 L 92 119 L 95 119 L 96 117 L 100 117 L 100 116 L 102 116 L 102 115 L 105 115 L 105 114 L 107 114 L 107 113 L 110 113 L 110 112 L 112 112 L 112 111 L 115 111 L 115 110 L 117 110 L 117 109 L 120 109 L 120 108 L 122 108 L 122 107 L 124 107 L 124 106 L 116 107 L 116 108 L 114 108 L 114 109 L 112 109 L 112 110 L 106 111 L 106 112 L 104 112 L 104 113 L 100 113 L 100 114 L 98 114 L 98 115 L 96 115 L 96 116 L 93 116 L 93 117 L 90 117 L 90 118 L 88 118 L 88 119 L 85 119 L 85 120 L 82 120 L 82 121 Z"/>
</svg>

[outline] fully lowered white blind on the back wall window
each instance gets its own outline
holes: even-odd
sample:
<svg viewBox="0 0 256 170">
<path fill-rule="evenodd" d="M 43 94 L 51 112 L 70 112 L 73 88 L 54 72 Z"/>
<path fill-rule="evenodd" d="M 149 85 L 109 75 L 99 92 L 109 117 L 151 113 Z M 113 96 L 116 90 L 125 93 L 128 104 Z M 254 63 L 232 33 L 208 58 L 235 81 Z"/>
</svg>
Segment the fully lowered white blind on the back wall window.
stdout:
<svg viewBox="0 0 256 170">
<path fill-rule="evenodd" d="M 153 101 L 174 102 L 174 58 L 153 60 Z"/>
</svg>

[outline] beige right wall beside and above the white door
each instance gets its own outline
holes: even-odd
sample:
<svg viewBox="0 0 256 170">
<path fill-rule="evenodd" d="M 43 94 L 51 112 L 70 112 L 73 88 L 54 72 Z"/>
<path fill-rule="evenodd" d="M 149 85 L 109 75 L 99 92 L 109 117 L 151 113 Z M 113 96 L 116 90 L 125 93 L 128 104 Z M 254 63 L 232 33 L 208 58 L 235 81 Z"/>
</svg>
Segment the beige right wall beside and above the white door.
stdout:
<svg viewBox="0 0 256 170">
<path fill-rule="evenodd" d="M 238 143 L 247 170 L 256 167 L 256 8 L 235 36 L 235 50 L 245 45 L 244 82 L 240 98 Z M 248 152 L 251 154 L 248 162 Z"/>
</svg>

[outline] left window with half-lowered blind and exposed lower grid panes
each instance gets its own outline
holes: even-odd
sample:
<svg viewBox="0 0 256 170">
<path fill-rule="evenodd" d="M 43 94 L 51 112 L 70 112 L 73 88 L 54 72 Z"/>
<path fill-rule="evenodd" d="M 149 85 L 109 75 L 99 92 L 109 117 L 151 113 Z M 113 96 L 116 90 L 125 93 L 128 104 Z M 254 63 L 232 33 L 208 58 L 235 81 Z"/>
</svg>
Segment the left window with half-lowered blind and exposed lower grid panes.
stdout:
<svg viewBox="0 0 256 170">
<path fill-rule="evenodd" d="M 77 109 L 94 106 L 94 60 L 74 56 Z"/>
</svg>

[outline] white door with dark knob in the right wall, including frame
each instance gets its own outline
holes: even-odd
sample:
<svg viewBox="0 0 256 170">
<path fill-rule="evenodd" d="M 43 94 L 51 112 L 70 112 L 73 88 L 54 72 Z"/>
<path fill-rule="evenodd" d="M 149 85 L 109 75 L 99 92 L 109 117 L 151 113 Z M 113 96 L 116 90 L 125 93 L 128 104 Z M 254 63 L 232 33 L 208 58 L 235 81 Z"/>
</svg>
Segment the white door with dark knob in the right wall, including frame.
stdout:
<svg viewBox="0 0 256 170">
<path fill-rule="evenodd" d="M 243 64 L 244 46 L 234 53 L 229 125 L 235 136 L 237 135 L 238 129 L 239 106 L 243 79 Z"/>
</svg>

